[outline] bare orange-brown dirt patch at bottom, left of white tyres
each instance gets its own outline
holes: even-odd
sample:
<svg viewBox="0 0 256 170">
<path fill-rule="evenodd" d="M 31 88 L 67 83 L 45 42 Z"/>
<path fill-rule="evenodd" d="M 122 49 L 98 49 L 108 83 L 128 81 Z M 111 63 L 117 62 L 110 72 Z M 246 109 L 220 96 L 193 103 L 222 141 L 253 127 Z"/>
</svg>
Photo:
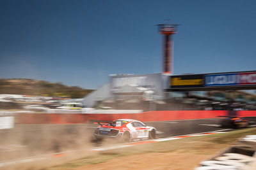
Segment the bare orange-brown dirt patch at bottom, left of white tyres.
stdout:
<svg viewBox="0 0 256 170">
<path fill-rule="evenodd" d="M 100 164 L 91 164 L 74 168 L 84 169 L 194 169 L 202 160 L 209 155 L 195 153 L 141 153 L 128 157 L 120 157 L 108 160 Z"/>
</svg>

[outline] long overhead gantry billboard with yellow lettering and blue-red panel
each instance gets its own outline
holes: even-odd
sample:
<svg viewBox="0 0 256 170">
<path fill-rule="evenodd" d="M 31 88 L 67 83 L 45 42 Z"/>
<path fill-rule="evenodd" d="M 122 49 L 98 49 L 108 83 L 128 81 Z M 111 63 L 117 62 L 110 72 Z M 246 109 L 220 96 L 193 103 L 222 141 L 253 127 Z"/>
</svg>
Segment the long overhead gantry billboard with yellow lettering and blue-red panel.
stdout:
<svg viewBox="0 0 256 170">
<path fill-rule="evenodd" d="M 255 85 L 255 86 L 254 86 Z M 170 90 L 256 89 L 256 71 L 214 74 L 187 74 L 170 76 Z"/>
</svg>

